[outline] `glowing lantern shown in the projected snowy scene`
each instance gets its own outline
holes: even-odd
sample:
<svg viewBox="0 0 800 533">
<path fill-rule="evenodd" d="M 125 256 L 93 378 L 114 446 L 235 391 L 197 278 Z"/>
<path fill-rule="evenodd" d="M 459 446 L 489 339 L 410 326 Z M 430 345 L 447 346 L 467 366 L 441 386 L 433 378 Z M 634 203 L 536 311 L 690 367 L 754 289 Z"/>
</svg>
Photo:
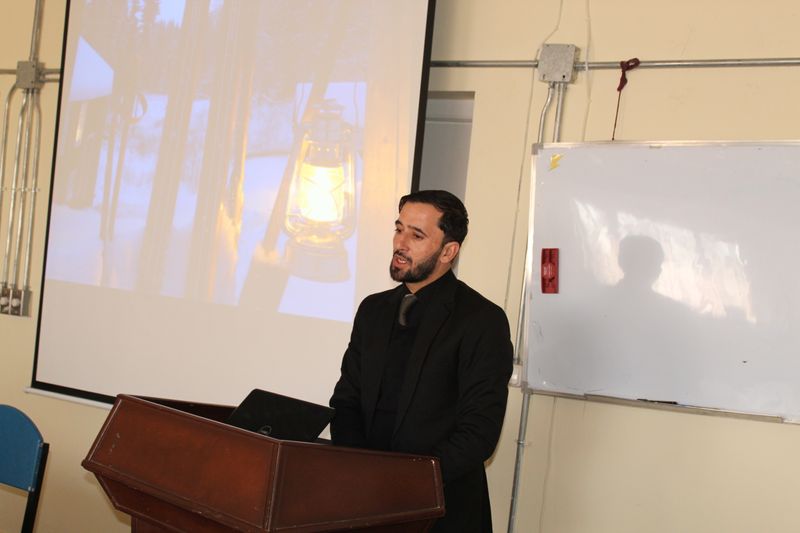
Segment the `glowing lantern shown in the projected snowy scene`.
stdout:
<svg viewBox="0 0 800 533">
<path fill-rule="evenodd" d="M 285 227 L 293 273 L 347 279 L 344 240 L 355 230 L 355 169 L 342 107 L 326 100 L 303 132 L 289 186 Z"/>
</svg>

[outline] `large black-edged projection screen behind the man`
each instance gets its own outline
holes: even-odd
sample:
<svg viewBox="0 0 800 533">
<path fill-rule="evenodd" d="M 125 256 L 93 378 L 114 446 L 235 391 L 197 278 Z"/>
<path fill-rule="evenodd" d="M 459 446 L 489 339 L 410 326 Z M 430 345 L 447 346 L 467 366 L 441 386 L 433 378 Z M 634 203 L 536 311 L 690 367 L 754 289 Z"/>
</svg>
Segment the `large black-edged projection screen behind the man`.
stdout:
<svg viewBox="0 0 800 533">
<path fill-rule="evenodd" d="M 358 303 L 392 285 L 432 17 L 70 2 L 33 387 L 327 403 Z"/>
</svg>

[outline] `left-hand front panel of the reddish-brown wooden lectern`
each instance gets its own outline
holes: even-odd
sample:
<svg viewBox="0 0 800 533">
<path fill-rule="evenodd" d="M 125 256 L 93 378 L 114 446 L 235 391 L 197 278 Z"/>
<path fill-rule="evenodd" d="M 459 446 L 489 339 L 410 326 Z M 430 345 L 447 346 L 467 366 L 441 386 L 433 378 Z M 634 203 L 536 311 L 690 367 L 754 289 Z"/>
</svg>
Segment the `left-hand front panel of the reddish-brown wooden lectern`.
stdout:
<svg viewBox="0 0 800 533">
<path fill-rule="evenodd" d="M 255 526 L 269 512 L 276 445 L 224 424 L 130 398 L 119 403 L 92 461 L 167 501 L 224 509 Z"/>
</svg>

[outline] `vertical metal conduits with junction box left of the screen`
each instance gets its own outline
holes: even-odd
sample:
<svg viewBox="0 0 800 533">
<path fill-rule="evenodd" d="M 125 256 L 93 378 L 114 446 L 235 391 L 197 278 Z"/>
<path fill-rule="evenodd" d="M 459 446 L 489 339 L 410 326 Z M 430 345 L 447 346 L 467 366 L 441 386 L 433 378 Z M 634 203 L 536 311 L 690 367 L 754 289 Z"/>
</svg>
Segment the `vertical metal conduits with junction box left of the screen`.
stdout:
<svg viewBox="0 0 800 533">
<path fill-rule="evenodd" d="M 36 194 L 39 192 L 39 156 L 42 137 L 42 111 L 40 95 L 42 86 L 60 79 L 59 69 L 46 69 L 39 62 L 42 1 L 36 0 L 31 32 L 30 54 L 26 61 L 18 61 L 16 69 L 0 69 L 0 75 L 14 75 L 16 79 L 3 102 L 3 119 L 0 123 L 0 243 L 3 245 L 0 268 L 0 314 L 30 316 L 31 256 L 33 228 L 36 212 Z M 11 174 L 6 178 L 8 162 L 9 115 L 17 92 L 22 102 L 17 118 L 14 141 L 14 160 Z"/>
</svg>

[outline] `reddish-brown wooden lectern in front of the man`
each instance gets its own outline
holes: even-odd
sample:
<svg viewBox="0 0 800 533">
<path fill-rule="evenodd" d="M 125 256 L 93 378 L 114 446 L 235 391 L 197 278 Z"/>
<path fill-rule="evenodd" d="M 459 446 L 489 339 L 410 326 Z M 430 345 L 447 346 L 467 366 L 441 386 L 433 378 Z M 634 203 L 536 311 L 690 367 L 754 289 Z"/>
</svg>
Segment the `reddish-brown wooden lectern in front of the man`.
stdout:
<svg viewBox="0 0 800 533">
<path fill-rule="evenodd" d="M 136 533 L 422 532 L 444 515 L 435 458 L 277 440 L 232 410 L 120 395 L 82 465 Z"/>
</svg>

